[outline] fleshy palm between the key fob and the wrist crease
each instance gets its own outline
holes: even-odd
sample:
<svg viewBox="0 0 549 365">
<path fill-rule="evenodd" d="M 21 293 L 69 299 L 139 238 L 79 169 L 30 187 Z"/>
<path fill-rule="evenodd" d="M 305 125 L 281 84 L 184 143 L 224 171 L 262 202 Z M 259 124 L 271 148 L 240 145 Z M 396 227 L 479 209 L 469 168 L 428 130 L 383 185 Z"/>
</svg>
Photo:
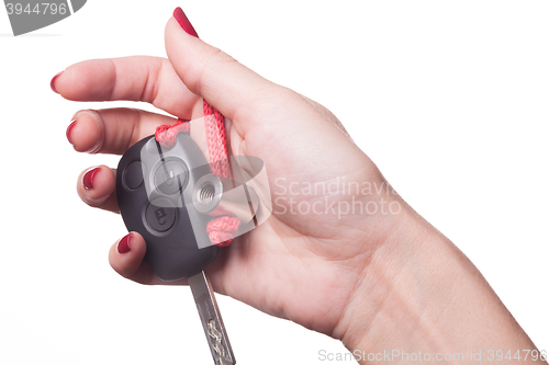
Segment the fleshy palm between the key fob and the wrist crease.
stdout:
<svg viewBox="0 0 549 365">
<path fill-rule="evenodd" d="M 365 231 L 341 229 L 341 221 L 356 217 L 338 217 L 338 203 L 351 196 L 334 192 L 335 182 L 362 183 L 380 175 L 311 104 L 299 106 L 303 114 L 280 107 L 269 113 L 240 113 L 255 118 L 257 126 L 244 135 L 235 128 L 229 130 L 233 155 L 265 161 L 273 216 L 224 250 L 222 259 L 209 267 L 209 275 L 219 292 L 330 333 L 350 294 L 341 288 L 355 286 L 359 273 L 352 267 L 371 250 L 358 244 L 365 240 Z M 323 128 L 333 128 L 333 134 L 318 132 Z M 335 149 L 344 152 L 335 153 Z M 318 318 L 324 319 L 322 328 L 315 324 Z"/>
</svg>

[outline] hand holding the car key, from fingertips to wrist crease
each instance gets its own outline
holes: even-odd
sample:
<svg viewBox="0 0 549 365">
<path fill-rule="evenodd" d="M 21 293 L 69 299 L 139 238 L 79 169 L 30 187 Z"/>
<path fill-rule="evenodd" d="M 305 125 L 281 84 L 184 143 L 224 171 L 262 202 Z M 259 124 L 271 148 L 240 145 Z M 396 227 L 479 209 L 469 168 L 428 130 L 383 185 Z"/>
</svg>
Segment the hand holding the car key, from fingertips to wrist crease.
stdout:
<svg viewBox="0 0 549 365">
<path fill-rule="evenodd" d="M 198 117 L 192 111 L 203 96 L 232 119 L 232 155 L 265 161 L 276 202 L 266 224 L 236 239 L 208 267 L 212 284 L 216 292 L 260 310 L 335 335 L 352 288 L 386 232 L 380 230 L 378 216 L 338 217 L 338 203 L 352 203 L 349 194 L 301 191 L 312 183 L 326 187 L 337 179 L 345 179 L 346 185 L 382 186 L 381 174 L 326 109 L 189 36 L 175 20 L 167 24 L 166 48 L 169 60 L 130 57 L 70 66 L 55 88 L 69 100 L 143 101 L 188 119 Z M 119 155 L 154 134 L 156 126 L 176 122 L 130 109 L 80 111 L 74 118 L 68 138 L 77 151 Z M 114 172 L 101 167 L 91 189 L 85 189 L 82 175 L 80 197 L 116 212 Z M 324 196 L 335 208 L 327 208 Z M 366 205 L 378 196 L 355 198 Z M 312 209 L 315 202 L 320 214 L 299 213 Z M 123 254 L 112 247 L 114 270 L 143 284 L 163 284 L 143 262 L 143 238 L 133 232 L 130 246 Z"/>
</svg>

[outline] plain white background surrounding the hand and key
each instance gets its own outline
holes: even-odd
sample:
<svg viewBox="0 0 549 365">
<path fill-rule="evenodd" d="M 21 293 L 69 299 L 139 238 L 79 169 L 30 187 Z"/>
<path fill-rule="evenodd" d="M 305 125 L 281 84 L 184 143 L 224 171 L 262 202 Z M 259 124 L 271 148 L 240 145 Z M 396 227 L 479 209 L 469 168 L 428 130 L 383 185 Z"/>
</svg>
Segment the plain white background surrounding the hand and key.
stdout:
<svg viewBox="0 0 549 365">
<path fill-rule="evenodd" d="M 547 1 L 108 1 L 13 37 L 0 8 L 1 364 L 210 364 L 187 287 L 109 266 L 119 216 L 77 174 L 116 157 L 65 137 L 72 62 L 165 56 L 181 5 L 201 38 L 330 109 L 396 191 L 471 260 L 549 350 Z M 148 105 L 134 105 L 148 107 Z M 316 364 L 335 340 L 217 297 L 239 364 Z M 421 349 L 418 349 L 421 350 Z"/>
</svg>

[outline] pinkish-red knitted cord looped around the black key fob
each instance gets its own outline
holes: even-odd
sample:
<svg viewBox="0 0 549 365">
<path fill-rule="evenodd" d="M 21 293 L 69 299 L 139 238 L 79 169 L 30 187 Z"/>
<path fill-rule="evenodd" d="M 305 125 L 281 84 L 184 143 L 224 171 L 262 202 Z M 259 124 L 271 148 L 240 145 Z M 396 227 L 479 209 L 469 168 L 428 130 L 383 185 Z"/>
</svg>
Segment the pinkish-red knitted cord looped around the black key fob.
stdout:
<svg viewBox="0 0 549 365">
<path fill-rule="evenodd" d="M 210 155 L 210 166 L 212 173 L 220 178 L 229 179 L 229 164 L 227 141 L 225 136 L 225 118 L 223 115 L 205 100 L 203 103 L 204 123 L 208 144 L 208 153 Z M 178 119 L 173 125 L 161 125 L 156 128 L 155 138 L 165 148 L 170 149 L 176 145 L 179 133 L 189 133 L 189 121 Z M 235 216 L 222 215 L 214 217 L 206 226 L 206 232 L 210 241 L 219 247 L 228 246 L 236 232 L 240 220 Z"/>
</svg>

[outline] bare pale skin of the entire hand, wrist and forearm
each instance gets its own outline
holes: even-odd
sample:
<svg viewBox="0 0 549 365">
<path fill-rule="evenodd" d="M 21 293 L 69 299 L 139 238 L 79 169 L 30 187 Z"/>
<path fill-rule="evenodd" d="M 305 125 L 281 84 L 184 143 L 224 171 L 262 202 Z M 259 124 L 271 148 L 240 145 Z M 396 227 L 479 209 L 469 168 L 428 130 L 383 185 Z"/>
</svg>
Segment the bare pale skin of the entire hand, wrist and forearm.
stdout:
<svg viewBox="0 0 549 365">
<path fill-rule="evenodd" d="M 79 152 L 122 155 L 158 125 L 199 117 L 193 111 L 202 98 L 233 121 L 227 130 L 232 153 L 265 161 L 278 201 L 264 225 L 236 239 L 206 269 L 216 292 L 338 339 L 351 352 L 401 349 L 468 356 L 471 350 L 536 349 L 474 265 L 391 190 L 329 111 L 188 35 L 173 19 L 166 26 L 166 49 L 169 59 L 72 65 L 55 80 L 55 89 L 74 101 L 147 102 L 175 116 L 79 111 L 68 135 Z M 101 166 L 90 190 L 82 185 L 85 172 L 77 183 L 82 201 L 117 212 L 115 171 Z M 307 183 L 337 179 L 383 189 L 300 192 Z M 327 208 L 356 202 L 400 209 L 338 215 Z M 299 214 L 299 204 L 322 214 Z M 146 247 L 136 232 L 130 249 L 119 253 L 114 243 L 110 250 L 119 274 L 166 284 L 143 262 Z"/>
</svg>

